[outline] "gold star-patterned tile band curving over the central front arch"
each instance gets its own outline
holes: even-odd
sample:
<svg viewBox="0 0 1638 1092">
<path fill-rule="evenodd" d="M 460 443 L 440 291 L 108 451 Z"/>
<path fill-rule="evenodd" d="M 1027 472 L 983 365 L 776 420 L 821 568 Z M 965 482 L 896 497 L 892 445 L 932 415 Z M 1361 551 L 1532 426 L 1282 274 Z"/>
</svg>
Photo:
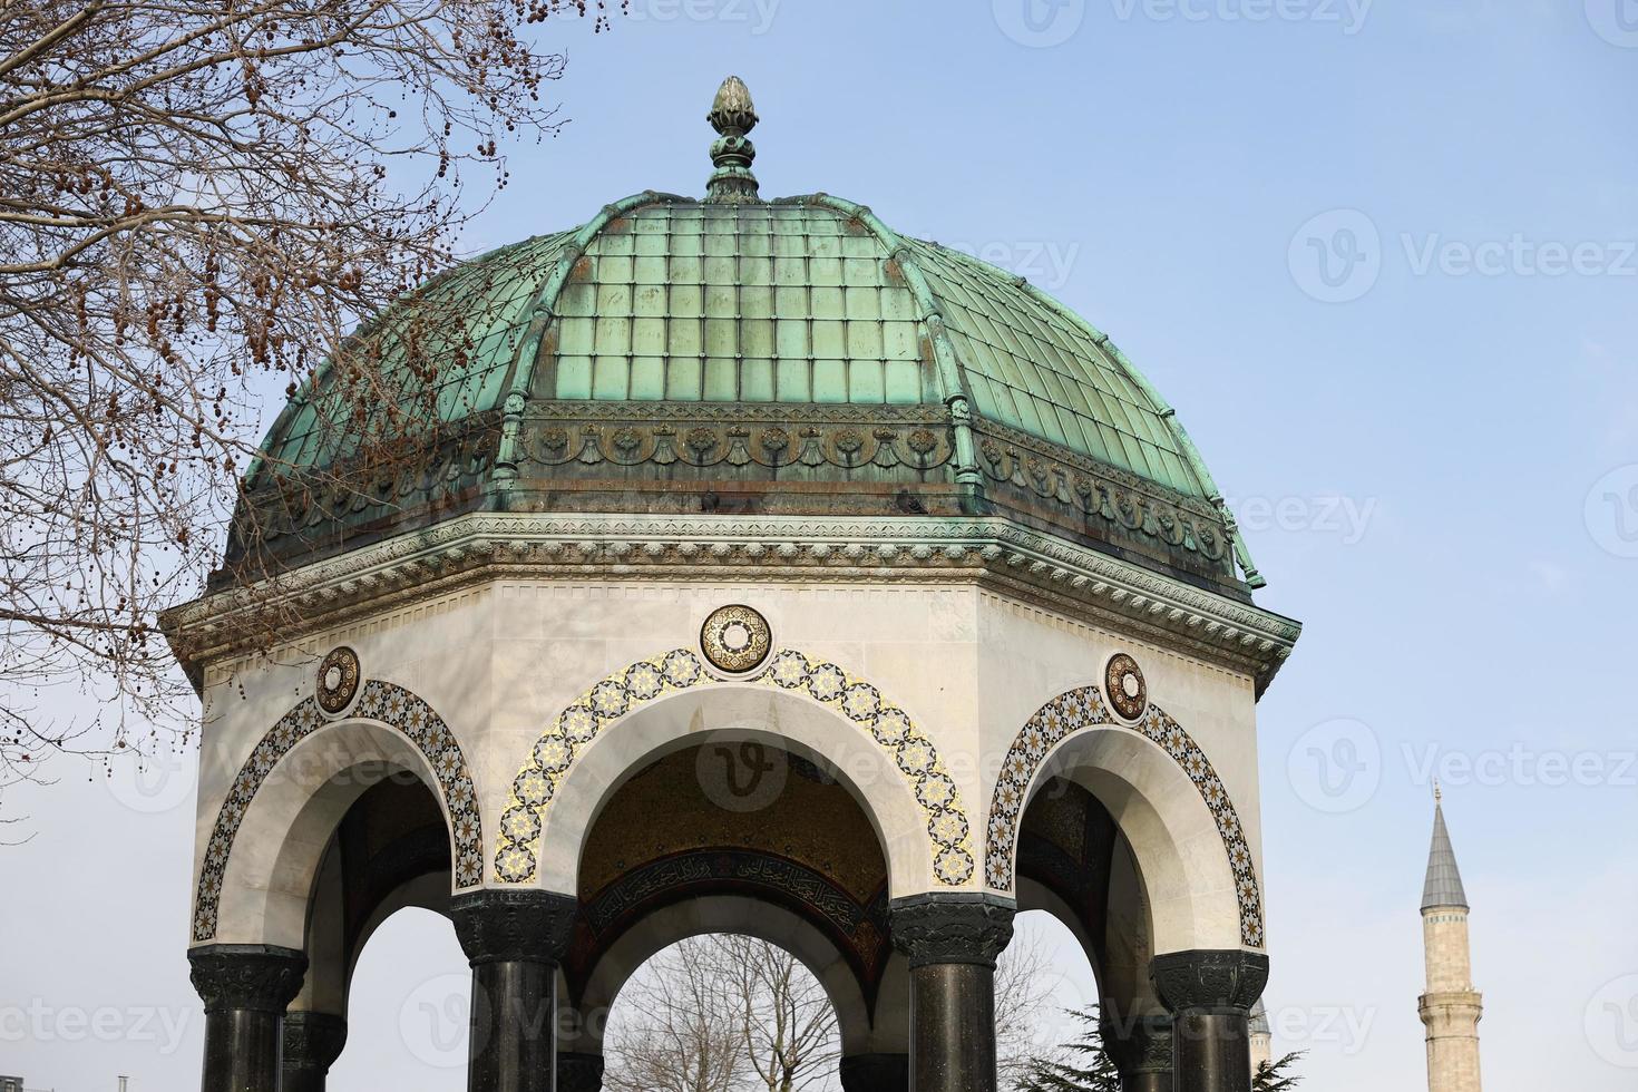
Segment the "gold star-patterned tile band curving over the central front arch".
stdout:
<svg viewBox="0 0 1638 1092">
<path fill-rule="evenodd" d="M 870 732 L 898 765 L 925 815 L 939 882 L 960 887 L 973 878 L 971 830 L 960 789 L 909 714 L 886 701 L 873 684 L 791 648 L 776 652 L 767 668 L 745 681 L 808 694 Z M 614 671 L 563 709 L 513 781 L 495 848 L 496 881 L 524 884 L 534 879 L 547 807 L 581 747 L 632 709 L 699 684 L 719 683 L 706 673 L 699 657 L 676 648 Z"/>
</svg>

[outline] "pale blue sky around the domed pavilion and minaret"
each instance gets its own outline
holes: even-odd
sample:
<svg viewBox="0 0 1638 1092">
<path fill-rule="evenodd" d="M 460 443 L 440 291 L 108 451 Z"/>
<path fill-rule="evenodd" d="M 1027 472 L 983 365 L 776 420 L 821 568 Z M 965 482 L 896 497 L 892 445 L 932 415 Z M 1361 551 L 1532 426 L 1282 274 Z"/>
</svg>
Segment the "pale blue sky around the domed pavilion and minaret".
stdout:
<svg viewBox="0 0 1638 1092">
<path fill-rule="evenodd" d="M 1423 1087 L 1443 771 L 1486 1087 L 1631 1089 L 1638 3 L 1024 2 L 632 0 L 613 33 L 549 25 L 572 124 L 518 151 L 468 242 L 699 193 L 737 72 L 765 195 L 860 200 L 1084 313 L 1242 509 L 1260 602 L 1307 624 L 1260 714 L 1278 1046 L 1310 1051 L 1312 1089 Z M 192 799 L 143 817 L 59 774 L 5 851 L 0 1004 L 193 1004 Z M 441 930 L 372 945 L 378 1002 L 333 1087 L 375 1087 L 372 1064 L 462 1087 L 388 1058 L 421 979 L 460 972 Z M 172 1053 L 156 1033 L 0 1028 L 0 1071 L 192 1087 L 197 1023 Z"/>
</svg>

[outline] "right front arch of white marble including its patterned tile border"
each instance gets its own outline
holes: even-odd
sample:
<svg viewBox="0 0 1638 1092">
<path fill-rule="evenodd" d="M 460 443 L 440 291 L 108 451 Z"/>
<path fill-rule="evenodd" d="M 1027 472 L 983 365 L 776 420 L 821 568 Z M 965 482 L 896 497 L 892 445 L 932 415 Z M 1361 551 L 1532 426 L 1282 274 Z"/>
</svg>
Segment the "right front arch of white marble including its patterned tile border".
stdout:
<svg viewBox="0 0 1638 1092">
<path fill-rule="evenodd" d="M 1089 787 L 1138 853 L 1156 951 L 1263 946 L 1251 848 L 1206 751 L 1153 702 L 1135 725 L 1115 722 L 1096 686 L 1042 706 L 1007 750 L 986 827 L 991 887 L 1014 889 L 1024 805 L 1053 774 Z M 1224 917 L 1238 925 L 1237 938 L 1222 938 Z"/>
</svg>

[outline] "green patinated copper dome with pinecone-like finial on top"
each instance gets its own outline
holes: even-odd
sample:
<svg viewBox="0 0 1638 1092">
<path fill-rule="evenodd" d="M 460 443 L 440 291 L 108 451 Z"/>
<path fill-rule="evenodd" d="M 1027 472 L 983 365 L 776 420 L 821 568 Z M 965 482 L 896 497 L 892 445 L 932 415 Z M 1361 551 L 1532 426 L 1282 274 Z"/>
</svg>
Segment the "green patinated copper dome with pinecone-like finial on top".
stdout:
<svg viewBox="0 0 1638 1092">
<path fill-rule="evenodd" d="M 724 496 L 783 514 L 999 509 L 1243 586 L 1210 475 L 1104 334 L 865 206 L 762 200 L 744 83 L 724 85 L 709 120 L 704 200 L 616 201 L 457 267 L 362 329 L 278 417 L 252 493 L 288 496 L 382 440 L 411 440 L 424 478 L 400 465 L 377 483 L 383 504 L 296 504 L 270 537 L 378 535 L 410 512 L 424 524 L 472 508 L 699 511 Z M 369 439 L 336 409 L 360 381 L 383 391 Z M 324 535 L 301 537 L 313 550 Z"/>
</svg>

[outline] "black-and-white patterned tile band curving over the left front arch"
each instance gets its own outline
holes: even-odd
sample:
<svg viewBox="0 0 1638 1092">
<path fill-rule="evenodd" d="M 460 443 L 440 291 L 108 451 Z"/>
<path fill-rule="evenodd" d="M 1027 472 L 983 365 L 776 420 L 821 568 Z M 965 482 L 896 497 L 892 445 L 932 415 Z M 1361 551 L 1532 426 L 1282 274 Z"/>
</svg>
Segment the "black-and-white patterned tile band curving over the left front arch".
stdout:
<svg viewBox="0 0 1638 1092">
<path fill-rule="evenodd" d="M 455 742 L 455 733 L 423 697 L 378 679 L 364 684 L 364 693 L 351 717 L 380 720 L 396 729 L 426 756 L 437 778 L 437 791 L 449 817 L 455 889 L 482 884 L 483 824 L 478 819 L 478 797 L 472 787 L 467 756 L 462 753 L 460 743 Z M 239 824 L 244 820 L 251 801 L 256 799 L 257 789 L 267 781 L 267 774 L 272 773 L 280 758 L 329 724 L 344 724 L 344 720 L 326 719 L 319 712 L 318 702 L 308 697 L 280 717 L 278 724 L 262 737 L 251 756 L 244 760 L 244 766 L 233 779 L 228 799 L 216 812 L 216 825 L 211 828 L 210 845 L 205 848 L 205 864 L 200 869 L 198 892 L 193 899 L 195 941 L 216 936 L 216 910 L 221 904 L 221 881 L 228 871 L 228 855 L 233 851 L 233 840 L 239 833 Z"/>
</svg>

